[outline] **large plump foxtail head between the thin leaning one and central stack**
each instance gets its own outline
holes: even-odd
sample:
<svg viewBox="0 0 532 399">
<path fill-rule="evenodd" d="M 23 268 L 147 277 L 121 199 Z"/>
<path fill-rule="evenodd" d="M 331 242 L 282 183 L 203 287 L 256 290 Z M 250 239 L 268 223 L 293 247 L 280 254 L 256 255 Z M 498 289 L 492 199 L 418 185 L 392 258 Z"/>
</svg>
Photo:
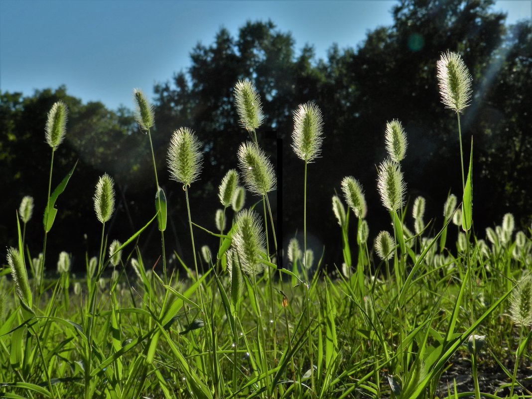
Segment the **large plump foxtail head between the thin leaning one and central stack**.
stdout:
<svg viewBox="0 0 532 399">
<path fill-rule="evenodd" d="M 179 128 L 173 132 L 168 148 L 168 169 L 170 177 L 185 186 L 200 177 L 203 153 L 194 132 Z"/>
</svg>

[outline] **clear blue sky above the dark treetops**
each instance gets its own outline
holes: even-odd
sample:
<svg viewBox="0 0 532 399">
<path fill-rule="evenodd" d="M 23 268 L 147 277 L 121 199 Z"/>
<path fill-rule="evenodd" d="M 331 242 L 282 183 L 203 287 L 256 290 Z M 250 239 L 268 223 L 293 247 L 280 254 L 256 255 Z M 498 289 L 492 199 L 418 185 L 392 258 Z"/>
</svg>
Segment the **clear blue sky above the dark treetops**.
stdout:
<svg viewBox="0 0 532 399">
<path fill-rule="evenodd" d="M 271 19 L 300 49 L 324 58 L 333 43 L 356 47 L 392 23 L 396 1 L 0 0 L 0 90 L 31 95 L 64 84 L 83 101 L 131 107 L 132 89 L 186 70 L 189 52 L 221 28 Z M 500 0 L 508 21 L 530 18 L 531 0 Z"/>
</svg>

